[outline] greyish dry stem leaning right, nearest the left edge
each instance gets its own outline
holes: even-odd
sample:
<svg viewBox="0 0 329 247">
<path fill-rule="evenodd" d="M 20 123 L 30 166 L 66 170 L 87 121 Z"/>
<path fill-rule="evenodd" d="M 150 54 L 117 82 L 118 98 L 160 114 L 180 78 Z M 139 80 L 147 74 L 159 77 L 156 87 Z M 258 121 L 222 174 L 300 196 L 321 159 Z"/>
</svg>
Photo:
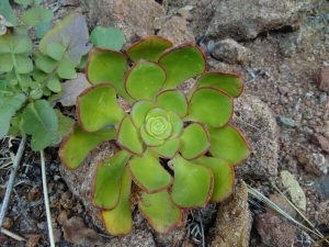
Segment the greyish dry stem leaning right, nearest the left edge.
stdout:
<svg viewBox="0 0 329 247">
<path fill-rule="evenodd" d="M 19 166 L 20 166 L 20 162 L 21 162 L 24 149 L 25 149 L 25 144 L 26 144 L 26 136 L 24 135 L 21 139 L 18 154 L 14 157 L 13 165 L 12 165 L 12 171 L 10 173 L 10 178 L 9 178 L 5 194 L 4 194 L 4 199 L 2 201 L 2 206 L 1 206 L 1 211 L 0 211 L 0 227 L 3 224 L 4 215 L 5 215 L 5 212 L 7 212 L 7 207 L 8 207 L 8 204 L 9 204 L 9 200 L 10 200 L 10 195 L 11 195 L 11 192 L 12 192 L 12 189 L 13 189 L 13 184 L 14 184 L 14 181 L 15 181 L 15 178 L 16 178 L 18 169 L 19 169 Z"/>
</svg>

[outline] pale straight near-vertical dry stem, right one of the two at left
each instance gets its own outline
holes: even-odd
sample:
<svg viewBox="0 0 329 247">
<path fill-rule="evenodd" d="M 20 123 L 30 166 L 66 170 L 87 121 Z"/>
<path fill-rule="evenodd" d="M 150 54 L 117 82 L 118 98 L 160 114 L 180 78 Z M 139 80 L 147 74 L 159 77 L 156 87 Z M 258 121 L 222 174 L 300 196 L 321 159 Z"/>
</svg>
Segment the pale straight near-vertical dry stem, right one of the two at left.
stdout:
<svg viewBox="0 0 329 247">
<path fill-rule="evenodd" d="M 55 247 L 55 240 L 54 240 L 54 234 L 53 234 L 53 224 L 52 224 L 52 214 L 50 214 L 49 200 L 48 200 L 48 188 L 47 188 L 46 165 L 45 165 L 44 150 L 41 150 L 39 155 L 41 155 L 41 160 L 42 160 L 43 191 L 44 191 L 44 198 L 45 198 L 45 207 L 46 207 L 46 215 L 47 215 L 49 240 L 50 240 L 50 246 Z"/>
</svg>

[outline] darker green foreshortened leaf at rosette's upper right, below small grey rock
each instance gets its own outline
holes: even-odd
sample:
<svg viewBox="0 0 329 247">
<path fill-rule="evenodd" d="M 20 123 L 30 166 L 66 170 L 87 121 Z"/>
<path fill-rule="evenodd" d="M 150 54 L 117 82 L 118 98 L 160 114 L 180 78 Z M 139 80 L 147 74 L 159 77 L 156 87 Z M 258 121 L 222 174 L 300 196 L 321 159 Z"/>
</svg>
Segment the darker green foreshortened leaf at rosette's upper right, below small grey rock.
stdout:
<svg viewBox="0 0 329 247">
<path fill-rule="evenodd" d="M 206 72 L 197 79 L 195 86 L 217 88 L 232 98 L 239 97 L 243 91 L 242 78 L 232 72 Z"/>
</svg>

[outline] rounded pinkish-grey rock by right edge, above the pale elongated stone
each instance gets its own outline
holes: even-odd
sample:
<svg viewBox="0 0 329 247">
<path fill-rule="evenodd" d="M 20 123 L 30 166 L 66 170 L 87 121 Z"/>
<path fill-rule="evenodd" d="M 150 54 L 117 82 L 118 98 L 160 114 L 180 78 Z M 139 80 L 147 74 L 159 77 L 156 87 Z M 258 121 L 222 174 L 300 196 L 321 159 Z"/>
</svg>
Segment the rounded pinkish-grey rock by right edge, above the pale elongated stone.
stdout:
<svg viewBox="0 0 329 247">
<path fill-rule="evenodd" d="M 328 173 L 329 162 L 321 154 L 299 155 L 297 160 L 310 173 L 316 176 L 326 176 Z"/>
</svg>

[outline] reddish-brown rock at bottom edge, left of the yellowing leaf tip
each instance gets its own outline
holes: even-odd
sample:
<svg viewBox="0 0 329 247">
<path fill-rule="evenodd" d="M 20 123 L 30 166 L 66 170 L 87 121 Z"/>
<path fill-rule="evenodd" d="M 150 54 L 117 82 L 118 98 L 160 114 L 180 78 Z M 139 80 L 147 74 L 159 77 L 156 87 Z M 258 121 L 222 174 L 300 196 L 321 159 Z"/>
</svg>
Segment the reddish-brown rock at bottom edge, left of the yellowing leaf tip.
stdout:
<svg viewBox="0 0 329 247">
<path fill-rule="evenodd" d="M 102 244 L 102 237 L 94 229 L 88 228 L 81 217 L 73 216 L 68 220 L 63 231 L 65 239 L 69 243 L 88 246 Z"/>
</svg>

